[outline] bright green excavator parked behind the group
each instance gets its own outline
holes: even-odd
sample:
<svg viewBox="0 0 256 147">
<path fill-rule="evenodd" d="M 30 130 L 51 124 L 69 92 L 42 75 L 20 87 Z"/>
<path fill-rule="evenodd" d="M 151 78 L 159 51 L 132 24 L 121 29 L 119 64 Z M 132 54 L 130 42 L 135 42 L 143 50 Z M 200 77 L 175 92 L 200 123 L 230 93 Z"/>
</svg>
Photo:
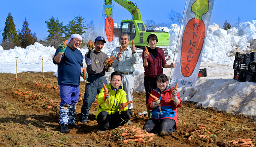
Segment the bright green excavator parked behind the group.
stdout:
<svg viewBox="0 0 256 147">
<path fill-rule="evenodd" d="M 157 35 L 158 46 L 170 45 L 170 34 L 168 32 L 165 32 L 163 30 L 146 30 L 145 29 L 145 25 L 141 21 L 140 11 L 136 3 L 133 3 L 128 0 L 114 0 L 114 1 L 117 2 L 119 5 L 121 5 L 123 8 L 126 8 L 132 14 L 131 20 L 122 20 L 118 37 L 120 38 L 121 33 L 127 33 L 131 40 L 129 45 L 131 45 L 132 40 L 134 40 L 137 53 L 139 53 L 140 57 L 142 57 L 142 51 L 144 50 L 144 46 L 148 46 L 147 37 L 150 34 Z M 105 0 L 105 5 L 112 5 L 112 0 Z M 162 49 L 164 50 L 165 57 L 167 57 L 168 50 L 166 48 L 162 48 Z"/>
</svg>

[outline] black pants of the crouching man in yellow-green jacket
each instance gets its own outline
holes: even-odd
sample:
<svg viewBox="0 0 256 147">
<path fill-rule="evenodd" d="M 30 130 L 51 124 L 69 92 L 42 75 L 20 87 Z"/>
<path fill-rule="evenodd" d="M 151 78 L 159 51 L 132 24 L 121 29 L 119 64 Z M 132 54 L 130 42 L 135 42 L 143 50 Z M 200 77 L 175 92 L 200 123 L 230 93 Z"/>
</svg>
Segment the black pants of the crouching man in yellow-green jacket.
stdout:
<svg viewBox="0 0 256 147">
<path fill-rule="evenodd" d="M 117 128 L 119 125 L 124 125 L 132 117 L 132 111 L 126 110 L 119 114 L 118 112 L 109 115 L 107 111 L 102 111 L 97 116 L 97 123 L 99 124 L 99 129 L 105 131 L 109 126 Z M 123 121 L 124 120 L 124 121 Z"/>
</svg>

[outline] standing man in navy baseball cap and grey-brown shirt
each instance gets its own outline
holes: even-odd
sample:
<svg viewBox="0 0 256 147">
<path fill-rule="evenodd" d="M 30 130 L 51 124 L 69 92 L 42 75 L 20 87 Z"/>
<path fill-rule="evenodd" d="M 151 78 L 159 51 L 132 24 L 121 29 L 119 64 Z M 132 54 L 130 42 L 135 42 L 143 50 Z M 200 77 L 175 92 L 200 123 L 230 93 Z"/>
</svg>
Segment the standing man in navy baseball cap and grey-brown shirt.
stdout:
<svg viewBox="0 0 256 147">
<path fill-rule="evenodd" d="M 86 71 L 88 73 L 87 81 L 89 83 L 86 83 L 85 86 L 83 106 L 81 107 L 79 120 L 83 124 L 88 121 L 90 106 L 95 101 L 96 95 L 99 94 L 100 90 L 103 88 L 103 83 L 108 85 L 105 71 L 108 70 L 111 65 L 105 64 L 109 57 L 107 54 L 101 52 L 104 43 L 106 43 L 104 38 L 98 36 L 94 41 L 94 51 L 89 49 L 89 52 L 85 54 Z"/>
</svg>

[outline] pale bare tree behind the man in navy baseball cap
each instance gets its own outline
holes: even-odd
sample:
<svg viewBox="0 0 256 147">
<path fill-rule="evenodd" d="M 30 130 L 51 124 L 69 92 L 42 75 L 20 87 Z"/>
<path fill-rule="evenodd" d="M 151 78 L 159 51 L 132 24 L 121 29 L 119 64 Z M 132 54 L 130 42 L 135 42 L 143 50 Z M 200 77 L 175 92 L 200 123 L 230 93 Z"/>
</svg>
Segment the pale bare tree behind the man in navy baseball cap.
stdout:
<svg viewBox="0 0 256 147">
<path fill-rule="evenodd" d="M 85 43 L 89 42 L 89 40 L 92 40 L 94 42 L 94 39 L 97 37 L 97 33 L 95 31 L 94 21 L 91 20 L 90 23 L 87 23 L 86 26 L 88 27 L 86 30 L 86 33 L 84 33 L 84 41 Z M 86 46 L 87 47 L 87 46 Z"/>
</svg>

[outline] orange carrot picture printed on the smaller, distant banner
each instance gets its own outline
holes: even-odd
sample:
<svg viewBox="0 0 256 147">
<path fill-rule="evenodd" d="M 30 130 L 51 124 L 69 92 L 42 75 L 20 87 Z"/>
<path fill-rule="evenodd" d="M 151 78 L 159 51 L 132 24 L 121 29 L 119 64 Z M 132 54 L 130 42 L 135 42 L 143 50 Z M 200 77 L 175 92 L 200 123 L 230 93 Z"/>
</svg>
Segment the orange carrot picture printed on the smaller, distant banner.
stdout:
<svg viewBox="0 0 256 147">
<path fill-rule="evenodd" d="M 112 42 L 114 37 L 114 21 L 111 17 L 112 9 L 106 8 L 105 14 L 107 15 L 107 18 L 105 19 L 106 36 L 108 41 Z"/>
</svg>

